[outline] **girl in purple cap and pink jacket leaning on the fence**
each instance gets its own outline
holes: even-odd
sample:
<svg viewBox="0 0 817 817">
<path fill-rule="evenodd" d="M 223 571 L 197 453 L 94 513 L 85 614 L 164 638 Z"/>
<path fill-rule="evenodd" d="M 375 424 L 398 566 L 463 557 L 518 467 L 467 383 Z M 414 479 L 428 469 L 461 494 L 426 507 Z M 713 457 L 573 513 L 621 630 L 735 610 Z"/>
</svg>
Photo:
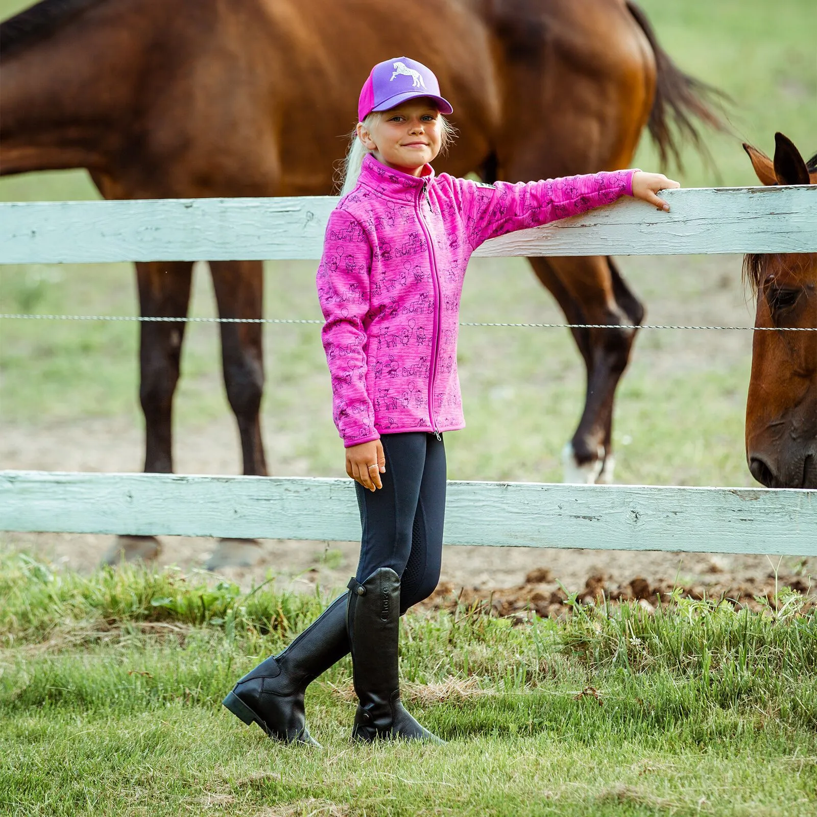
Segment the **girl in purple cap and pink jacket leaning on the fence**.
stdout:
<svg viewBox="0 0 817 817">
<path fill-rule="evenodd" d="M 442 435 L 465 425 L 457 332 L 468 258 L 486 239 L 625 194 L 668 210 L 656 193 L 679 186 L 633 170 L 517 185 L 435 176 L 451 113 L 431 70 L 406 57 L 375 65 L 360 92 L 317 275 L 334 420 L 357 483 L 359 565 L 349 592 L 224 701 L 280 740 L 315 743 L 304 690 L 351 650 L 353 739 L 441 742 L 400 703 L 398 623 L 440 577 Z"/>
</svg>

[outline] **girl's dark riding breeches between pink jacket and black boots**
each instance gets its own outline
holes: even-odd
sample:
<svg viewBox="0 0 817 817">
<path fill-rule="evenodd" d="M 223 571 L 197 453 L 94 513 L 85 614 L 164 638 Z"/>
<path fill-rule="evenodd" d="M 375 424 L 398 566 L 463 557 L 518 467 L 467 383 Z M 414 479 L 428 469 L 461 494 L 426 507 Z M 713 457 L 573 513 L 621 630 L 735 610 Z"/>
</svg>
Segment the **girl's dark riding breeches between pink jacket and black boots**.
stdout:
<svg viewBox="0 0 817 817">
<path fill-rule="evenodd" d="M 400 613 L 440 580 L 445 516 L 445 446 L 433 434 L 384 434 L 381 489 L 357 489 L 363 538 L 357 580 L 388 567 L 400 576 Z"/>
</svg>

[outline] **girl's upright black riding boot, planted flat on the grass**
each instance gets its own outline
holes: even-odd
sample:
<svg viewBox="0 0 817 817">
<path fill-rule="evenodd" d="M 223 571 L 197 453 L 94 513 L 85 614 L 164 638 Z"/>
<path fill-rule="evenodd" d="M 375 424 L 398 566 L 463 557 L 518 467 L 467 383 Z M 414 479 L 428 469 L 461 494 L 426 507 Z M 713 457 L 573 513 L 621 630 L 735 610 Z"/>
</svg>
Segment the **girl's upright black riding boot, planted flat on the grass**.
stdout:
<svg viewBox="0 0 817 817">
<path fill-rule="evenodd" d="M 400 577 L 380 568 L 363 584 L 349 583 L 346 627 L 352 650 L 355 692 L 359 699 L 352 739 L 421 739 L 444 743 L 417 723 L 400 702 L 397 643 L 400 625 Z"/>
</svg>

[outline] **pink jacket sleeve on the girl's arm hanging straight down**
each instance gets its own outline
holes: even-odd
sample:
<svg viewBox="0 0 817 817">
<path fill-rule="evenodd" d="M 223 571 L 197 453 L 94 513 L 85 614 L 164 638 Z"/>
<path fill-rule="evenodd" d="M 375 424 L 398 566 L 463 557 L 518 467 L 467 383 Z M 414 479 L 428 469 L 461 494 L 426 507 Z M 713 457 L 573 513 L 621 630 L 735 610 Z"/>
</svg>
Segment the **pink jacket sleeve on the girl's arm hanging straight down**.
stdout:
<svg viewBox="0 0 817 817">
<path fill-rule="evenodd" d="M 343 210 L 329 217 L 318 267 L 321 339 L 332 375 L 333 418 L 346 448 L 378 440 L 366 392 L 366 330 L 372 249 L 363 228 Z"/>
</svg>

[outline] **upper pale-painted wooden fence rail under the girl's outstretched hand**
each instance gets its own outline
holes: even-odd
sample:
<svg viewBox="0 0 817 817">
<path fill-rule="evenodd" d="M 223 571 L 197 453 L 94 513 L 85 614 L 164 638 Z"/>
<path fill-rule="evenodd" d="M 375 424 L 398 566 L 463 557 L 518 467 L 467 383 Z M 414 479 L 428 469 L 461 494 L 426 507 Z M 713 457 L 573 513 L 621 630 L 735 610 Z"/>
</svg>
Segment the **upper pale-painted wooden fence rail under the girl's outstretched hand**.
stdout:
<svg viewBox="0 0 817 817">
<path fill-rule="evenodd" d="M 817 185 L 665 190 L 493 239 L 481 256 L 817 252 Z M 0 263 L 315 259 L 337 199 L 0 203 Z"/>
</svg>

